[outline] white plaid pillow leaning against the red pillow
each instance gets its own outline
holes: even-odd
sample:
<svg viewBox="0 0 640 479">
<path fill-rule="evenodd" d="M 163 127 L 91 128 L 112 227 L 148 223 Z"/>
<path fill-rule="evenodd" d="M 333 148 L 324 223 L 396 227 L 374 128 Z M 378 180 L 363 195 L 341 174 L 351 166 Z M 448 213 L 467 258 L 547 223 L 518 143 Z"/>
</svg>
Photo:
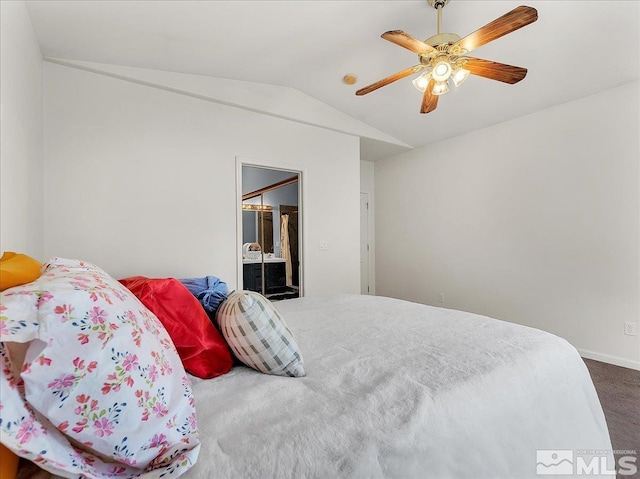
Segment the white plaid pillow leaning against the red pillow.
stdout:
<svg viewBox="0 0 640 479">
<path fill-rule="evenodd" d="M 220 305 L 216 321 L 235 356 L 261 373 L 304 376 L 298 345 L 271 302 L 252 291 L 236 291 Z"/>
</svg>

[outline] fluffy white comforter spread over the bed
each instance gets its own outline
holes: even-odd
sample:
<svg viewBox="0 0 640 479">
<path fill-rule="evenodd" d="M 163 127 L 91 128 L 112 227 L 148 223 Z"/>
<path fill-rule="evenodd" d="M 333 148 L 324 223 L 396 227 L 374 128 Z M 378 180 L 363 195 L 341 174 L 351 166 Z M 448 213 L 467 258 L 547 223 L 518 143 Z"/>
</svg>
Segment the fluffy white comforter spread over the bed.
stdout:
<svg viewBox="0 0 640 479">
<path fill-rule="evenodd" d="M 194 378 L 202 449 L 185 478 L 512 479 L 540 477 L 537 450 L 611 449 L 556 336 L 382 297 L 276 306 L 307 376 Z"/>
</svg>

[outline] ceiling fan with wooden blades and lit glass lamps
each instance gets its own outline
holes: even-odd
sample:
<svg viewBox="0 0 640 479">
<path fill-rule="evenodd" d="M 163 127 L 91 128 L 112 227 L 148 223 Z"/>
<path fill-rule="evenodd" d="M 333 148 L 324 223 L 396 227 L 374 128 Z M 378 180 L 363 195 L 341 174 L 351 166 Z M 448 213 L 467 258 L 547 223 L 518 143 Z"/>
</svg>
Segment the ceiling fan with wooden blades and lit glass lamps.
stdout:
<svg viewBox="0 0 640 479">
<path fill-rule="evenodd" d="M 527 6 L 514 8 L 475 32 L 460 38 L 454 33 L 440 32 L 442 9 L 449 0 L 428 0 L 428 2 L 438 10 L 437 35 L 427 38 L 424 42 L 402 30 L 391 30 L 381 35 L 385 40 L 417 53 L 420 63 L 361 88 L 356 95 L 366 95 L 396 80 L 426 70 L 413 80 L 413 85 L 424 92 L 420 113 L 429 113 L 438 106 L 440 95 L 449 91 L 449 80 L 458 87 L 469 75 L 477 75 L 514 84 L 527 75 L 526 68 L 466 55 L 482 45 L 535 22 L 538 19 L 538 11 L 535 8 Z"/>
</svg>

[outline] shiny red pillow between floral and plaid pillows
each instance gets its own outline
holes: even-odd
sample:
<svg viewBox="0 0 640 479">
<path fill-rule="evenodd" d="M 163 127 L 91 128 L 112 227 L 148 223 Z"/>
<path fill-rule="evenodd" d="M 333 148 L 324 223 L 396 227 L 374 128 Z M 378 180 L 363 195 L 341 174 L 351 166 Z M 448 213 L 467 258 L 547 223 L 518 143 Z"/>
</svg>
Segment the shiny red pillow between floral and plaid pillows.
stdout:
<svg viewBox="0 0 640 479">
<path fill-rule="evenodd" d="M 208 379 L 229 372 L 233 358 L 227 343 L 180 281 L 133 276 L 120 282 L 158 317 L 189 373 Z"/>
</svg>

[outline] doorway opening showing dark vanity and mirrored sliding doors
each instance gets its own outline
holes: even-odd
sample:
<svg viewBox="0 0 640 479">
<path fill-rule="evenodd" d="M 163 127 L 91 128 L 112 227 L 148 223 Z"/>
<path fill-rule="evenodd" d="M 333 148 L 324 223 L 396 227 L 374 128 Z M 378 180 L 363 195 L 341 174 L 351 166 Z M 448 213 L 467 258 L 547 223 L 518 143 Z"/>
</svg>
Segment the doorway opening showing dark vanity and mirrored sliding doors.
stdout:
<svg viewBox="0 0 640 479">
<path fill-rule="evenodd" d="M 302 295 L 301 172 L 241 165 L 242 289 L 272 301 Z"/>
</svg>

